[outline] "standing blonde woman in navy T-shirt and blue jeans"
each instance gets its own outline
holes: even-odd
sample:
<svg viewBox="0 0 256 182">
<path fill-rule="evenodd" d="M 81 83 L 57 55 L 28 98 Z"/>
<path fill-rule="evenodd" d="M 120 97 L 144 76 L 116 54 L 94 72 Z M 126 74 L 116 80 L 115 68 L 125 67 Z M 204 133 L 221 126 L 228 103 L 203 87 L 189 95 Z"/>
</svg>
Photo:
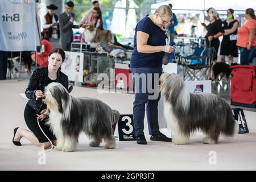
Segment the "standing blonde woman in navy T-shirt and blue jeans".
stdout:
<svg viewBox="0 0 256 182">
<path fill-rule="evenodd" d="M 170 53 L 174 51 L 174 47 L 166 46 L 167 35 L 164 29 L 164 26 L 170 22 L 171 18 L 172 11 L 170 6 L 163 5 L 160 6 L 154 14 L 146 15 L 141 19 L 135 29 L 134 52 L 131 56 L 131 73 L 135 89 L 133 117 L 138 144 L 147 144 L 143 132 L 145 105 L 147 107 L 147 122 L 148 130 L 151 135 L 150 139 L 166 142 L 171 142 L 172 140 L 159 131 L 159 92 L 155 100 L 150 99 L 152 93 L 148 93 L 148 80 L 152 79 L 152 85 L 154 85 L 154 82 L 156 82 L 157 87 L 159 85 L 164 52 Z M 154 80 L 155 76 L 159 76 L 157 80 Z M 140 80 L 139 77 L 144 77 L 144 79 Z M 143 92 L 144 89 L 146 89 L 145 92 Z"/>
</svg>

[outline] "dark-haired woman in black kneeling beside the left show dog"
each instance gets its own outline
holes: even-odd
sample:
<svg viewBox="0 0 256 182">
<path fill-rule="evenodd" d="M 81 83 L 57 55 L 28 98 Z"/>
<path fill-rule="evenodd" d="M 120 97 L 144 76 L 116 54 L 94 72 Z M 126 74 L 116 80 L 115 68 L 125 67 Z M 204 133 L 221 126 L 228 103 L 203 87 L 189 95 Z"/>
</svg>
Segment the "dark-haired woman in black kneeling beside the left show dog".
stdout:
<svg viewBox="0 0 256 182">
<path fill-rule="evenodd" d="M 14 129 L 13 143 L 16 146 L 22 145 L 19 142 L 22 137 L 39 147 L 48 148 L 51 146 L 51 143 L 39 128 L 37 118 L 40 119 L 39 124 L 44 133 L 53 144 L 56 144 L 55 136 L 49 129 L 49 126 L 46 125 L 46 122 L 43 121 L 46 118 L 46 105 L 40 98 L 44 96 L 44 88 L 51 82 L 59 82 L 68 89 L 68 77 L 60 71 L 61 64 L 63 64 L 64 60 L 64 50 L 61 48 L 53 49 L 49 53 L 48 67 L 36 68 L 32 72 L 25 92 L 27 98 L 30 100 L 28 100 L 24 110 L 24 119 L 30 131 L 20 127 Z"/>
</svg>

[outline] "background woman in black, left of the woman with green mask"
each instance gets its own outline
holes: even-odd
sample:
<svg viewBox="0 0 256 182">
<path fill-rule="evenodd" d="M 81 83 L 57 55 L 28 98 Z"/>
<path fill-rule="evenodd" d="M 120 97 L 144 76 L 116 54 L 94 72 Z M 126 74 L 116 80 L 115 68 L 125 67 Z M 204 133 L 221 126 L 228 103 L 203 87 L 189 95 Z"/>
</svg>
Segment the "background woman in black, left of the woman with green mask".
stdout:
<svg viewBox="0 0 256 182">
<path fill-rule="evenodd" d="M 205 36 L 207 47 L 214 47 L 215 52 L 213 56 L 213 64 L 217 62 L 218 58 L 218 47 L 220 47 L 220 40 L 218 38 L 223 35 L 224 32 L 224 24 L 221 19 L 218 18 L 218 14 L 215 9 L 209 8 L 207 10 L 208 17 L 210 18 L 210 24 L 205 26 L 207 29 L 207 35 Z"/>
</svg>

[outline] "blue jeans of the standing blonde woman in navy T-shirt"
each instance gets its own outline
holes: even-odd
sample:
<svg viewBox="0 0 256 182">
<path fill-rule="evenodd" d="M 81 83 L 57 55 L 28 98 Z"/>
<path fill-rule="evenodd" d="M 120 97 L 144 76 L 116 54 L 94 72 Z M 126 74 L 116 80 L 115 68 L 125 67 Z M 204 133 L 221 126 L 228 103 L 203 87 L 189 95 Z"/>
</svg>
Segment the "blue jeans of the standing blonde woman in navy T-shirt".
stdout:
<svg viewBox="0 0 256 182">
<path fill-rule="evenodd" d="M 147 108 L 147 122 L 148 122 L 148 131 L 150 135 L 155 135 L 160 133 L 159 125 L 158 125 L 158 101 L 160 100 L 160 93 L 158 90 L 159 86 L 159 77 L 162 74 L 162 68 L 131 68 L 131 73 L 133 76 L 133 84 L 135 90 L 135 100 L 133 102 L 133 119 L 134 119 L 134 127 L 135 127 L 135 135 L 144 135 L 144 114 L 145 114 L 145 104 Z M 141 75 L 142 73 L 146 73 L 144 78 L 136 79 L 135 73 Z M 151 73 L 152 75 L 147 75 Z M 138 76 L 137 75 L 137 76 Z M 154 79 L 154 76 L 159 76 L 158 80 Z M 152 85 L 157 85 L 151 87 L 151 84 L 148 84 L 148 79 L 152 78 Z M 145 83 L 146 82 L 146 83 Z M 150 81 L 149 81 L 150 83 Z M 146 85 L 146 92 L 143 92 L 143 86 Z M 153 88 L 157 89 L 158 92 L 152 93 L 152 90 L 148 89 Z M 155 99 L 151 99 L 152 94 L 157 94 Z"/>
</svg>

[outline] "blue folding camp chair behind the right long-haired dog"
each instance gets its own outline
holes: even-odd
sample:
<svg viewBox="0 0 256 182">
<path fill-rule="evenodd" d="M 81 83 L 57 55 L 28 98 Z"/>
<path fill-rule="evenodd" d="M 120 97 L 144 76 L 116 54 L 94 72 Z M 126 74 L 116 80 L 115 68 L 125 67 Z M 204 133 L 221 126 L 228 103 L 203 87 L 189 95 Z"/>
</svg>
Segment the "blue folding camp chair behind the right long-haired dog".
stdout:
<svg viewBox="0 0 256 182">
<path fill-rule="evenodd" d="M 193 55 L 181 55 L 184 80 L 208 80 L 211 48 L 196 47 Z"/>
</svg>

